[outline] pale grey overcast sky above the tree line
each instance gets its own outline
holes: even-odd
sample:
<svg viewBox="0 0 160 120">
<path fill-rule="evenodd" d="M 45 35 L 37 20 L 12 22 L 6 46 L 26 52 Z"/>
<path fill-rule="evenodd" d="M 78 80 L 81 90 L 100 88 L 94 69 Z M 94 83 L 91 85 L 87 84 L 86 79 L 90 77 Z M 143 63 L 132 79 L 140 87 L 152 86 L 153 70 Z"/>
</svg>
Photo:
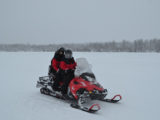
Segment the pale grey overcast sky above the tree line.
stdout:
<svg viewBox="0 0 160 120">
<path fill-rule="evenodd" d="M 160 38 L 160 0 L 0 0 L 0 43 Z"/>
</svg>

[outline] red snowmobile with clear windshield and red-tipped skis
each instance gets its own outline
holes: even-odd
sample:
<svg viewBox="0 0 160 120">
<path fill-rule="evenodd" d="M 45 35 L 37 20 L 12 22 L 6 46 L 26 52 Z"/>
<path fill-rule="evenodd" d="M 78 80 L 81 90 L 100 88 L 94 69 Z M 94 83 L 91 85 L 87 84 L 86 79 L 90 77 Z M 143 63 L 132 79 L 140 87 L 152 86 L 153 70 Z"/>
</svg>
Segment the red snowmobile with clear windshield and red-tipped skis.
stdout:
<svg viewBox="0 0 160 120">
<path fill-rule="evenodd" d="M 67 96 L 63 96 L 60 92 L 53 91 L 54 75 L 39 77 L 36 86 L 40 88 L 40 92 L 45 95 L 72 101 L 70 104 L 71 107 L 90 113 L 100 110 L 99 104 L 92 104 L 89 107 L 85 106 L 86 103 L 92 100 L 117 103 L 122 99 L 121 95 L 115 95 L 112 99 L 105 98 L 108 94 L 107 89 L 104 89 L 96 81 L 96 77 L 88 61 L 85 58 L 78 58 L 76 59 L 76 63 L 75 78 L 71 80 L 68 86 Z M 60 87 L 62 85 L 63 83 L 60 83 Z"/>
</svg>

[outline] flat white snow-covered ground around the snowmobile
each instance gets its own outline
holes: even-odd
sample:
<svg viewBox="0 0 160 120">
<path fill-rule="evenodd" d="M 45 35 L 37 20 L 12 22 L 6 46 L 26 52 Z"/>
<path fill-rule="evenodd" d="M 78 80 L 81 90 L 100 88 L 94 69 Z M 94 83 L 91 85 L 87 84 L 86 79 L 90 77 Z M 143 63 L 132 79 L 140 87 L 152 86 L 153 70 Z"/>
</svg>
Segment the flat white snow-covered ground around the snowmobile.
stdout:
<svg viewBox="0 0 160 120">
<path fill-rule="evenodd" d="M 73 109 L 68 103 L 40 94 L 39 76 L 47 75 L 54 53 L 0 53 L 0 120 L 159 120 L 160 54 L 74 53 L 92 64 L 97 80 L 120 93 L 119 104 L 98 102 L 96 114 Z"/>
</svg>

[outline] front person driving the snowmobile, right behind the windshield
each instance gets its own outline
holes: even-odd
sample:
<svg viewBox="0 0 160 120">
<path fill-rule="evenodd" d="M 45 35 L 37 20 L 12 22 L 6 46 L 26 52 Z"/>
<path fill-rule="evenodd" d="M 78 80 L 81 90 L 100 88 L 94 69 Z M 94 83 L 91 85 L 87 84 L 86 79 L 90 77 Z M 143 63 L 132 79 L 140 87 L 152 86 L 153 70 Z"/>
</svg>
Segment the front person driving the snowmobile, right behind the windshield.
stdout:
<svg viewBox="0 0 160 120">
<path fill-rule="evenodd" d="M 72 57 L 72 51 L 66 50 L 65 57 L 60 62 L 60 68 L 58 74 L 56 76 L 56 82 L 54 83 L 54 87 L 59 86 L 60 82 L 63 82 L 61 87 L 62 94 L 67 94 L 67 88 L 70 81 L 74 78 L 74 70 L 76 68 L 76 62 Z"/>
</svg>

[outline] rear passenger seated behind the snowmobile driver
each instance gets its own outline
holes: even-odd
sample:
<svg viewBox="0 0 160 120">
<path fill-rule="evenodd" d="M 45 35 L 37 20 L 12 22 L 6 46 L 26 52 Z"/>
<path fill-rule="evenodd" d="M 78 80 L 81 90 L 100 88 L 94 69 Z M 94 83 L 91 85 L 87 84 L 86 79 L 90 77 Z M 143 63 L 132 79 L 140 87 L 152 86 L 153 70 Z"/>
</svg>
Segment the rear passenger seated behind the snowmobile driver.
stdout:
<svg viewBox="0 0 160 120">
<path fill-rule="evenodd" d="M 57 71 L 59 70 L 60 62 L 64 58 L 64 51 L 65 49 L 61 47 L 55 52 L 54 57 L 51 60 L 51 65 L 49 66 L 49 71 L 48 71 L 49 76 L 56 75 Z"/>
</svg>

